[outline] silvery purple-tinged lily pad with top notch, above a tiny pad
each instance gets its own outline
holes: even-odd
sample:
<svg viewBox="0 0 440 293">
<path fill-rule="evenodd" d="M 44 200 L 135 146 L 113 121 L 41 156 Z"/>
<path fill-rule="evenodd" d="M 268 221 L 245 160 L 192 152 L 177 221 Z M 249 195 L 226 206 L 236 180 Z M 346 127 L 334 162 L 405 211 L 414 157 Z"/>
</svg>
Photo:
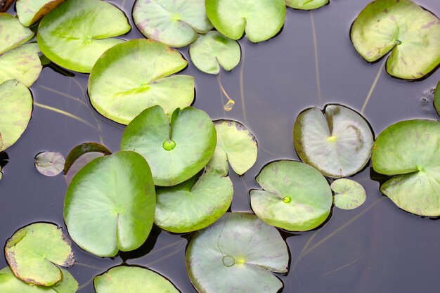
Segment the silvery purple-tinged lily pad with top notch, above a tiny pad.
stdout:
<svg viewBox="0 0 440 293">
<path fill-rule="evenodd" d="M 374 137 L 368 122 L 342 105 L 318 107 L 298 115 L 293 129 L 299 158 L 322 174 L 339 178 L 356 174 L 368 163 Z"/>
</svg>

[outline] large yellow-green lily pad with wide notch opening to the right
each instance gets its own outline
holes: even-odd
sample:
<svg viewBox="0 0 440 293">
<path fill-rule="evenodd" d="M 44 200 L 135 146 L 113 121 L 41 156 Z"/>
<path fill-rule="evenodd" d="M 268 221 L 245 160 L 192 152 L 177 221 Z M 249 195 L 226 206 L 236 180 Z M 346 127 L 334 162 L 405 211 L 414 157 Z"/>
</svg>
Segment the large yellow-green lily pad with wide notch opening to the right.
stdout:
<svg viewBox="0 0 440 293">
<path fill-rule="evenodd" d="M 181 53 L 156 41 L 135 39 L 114 46 L 90 74 L 91 103 L 103 116 L 122 124 L 153 105 L 171 116 L 194 100 L 193 77 L 169 77 L 187 64 Z"/>
</svg>

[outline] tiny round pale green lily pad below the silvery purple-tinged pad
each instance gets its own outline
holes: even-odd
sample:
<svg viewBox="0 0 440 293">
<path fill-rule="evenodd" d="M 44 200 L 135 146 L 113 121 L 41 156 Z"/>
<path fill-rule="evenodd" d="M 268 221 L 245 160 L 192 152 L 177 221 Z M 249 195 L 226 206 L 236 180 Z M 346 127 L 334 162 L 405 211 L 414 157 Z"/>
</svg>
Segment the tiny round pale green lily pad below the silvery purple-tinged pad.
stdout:
<svg viewBox="0 0 440 293">
<path fill-rule="evenodd" d="M 333 181 L 330 188 L 335 193 L 335 206 L 339 209 L 361 207 L 367 197 L 362 185 L 350 179 L 337 179 Z"/>
</svg>

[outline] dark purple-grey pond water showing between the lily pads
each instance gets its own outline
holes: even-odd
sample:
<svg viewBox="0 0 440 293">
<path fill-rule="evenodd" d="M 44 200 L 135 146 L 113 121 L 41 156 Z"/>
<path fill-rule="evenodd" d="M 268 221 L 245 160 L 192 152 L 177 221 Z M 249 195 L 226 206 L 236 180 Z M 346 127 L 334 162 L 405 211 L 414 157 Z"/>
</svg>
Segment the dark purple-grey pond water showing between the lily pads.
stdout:
<svg viewBox="0 0 440 293">
<path fill-rule="evenodd" d="M 131 14 L 134 0 L 112 2 Z M 342 103 L 361 110 L 380 63 L 368 65 L 356 54 L 349 40 L 349 27 L 368 2 L 333 0 L 330 6 L 313 14 L 288 9 L 283 32 L 276 38 L 261 44 L 241 39 L 242 63 L 233 72 L 221 72 L 221 82 L 236 102 L 231 112 L 223 110 L 226 98 L 222 98 L 215 76 L 199 72 L 192 64 L 184 71 L 195 77 L 195 107 L 207 111 L 212 119 L 226 117 L 243 122 L 257 136 L 257 164 L 241 178 L 231 174 L 235 188 L 232 211 L 251 211 L 248 191 L 258 187 L 254 177 L 266 163 L 298 159 L 292 126 L 304 108 Z M 439 0 L 418 3 L 440 15 Z M 135 27 L 126 36 L 138 37 L 141 34 Z M 188 59 L 188 48 L 181 52 Z M 65 115 L 34 108 L 25 134 L 7 151 L 9 163 L 0 181 L 0 241 L 35 221 L 65 226 L 63 200 L 67 185 L 63 176 L 48 178 L 37 172 L 34 156 L 38 152 L 50 150 L 67 155 L 79 143 L 100 141 L 100 135 L 105 145 L 118 150 L 123 127 L 91 110 L 86 96 L 87 78 L 86 74 L 63 77 L 46 67 L 32 86 L 37 103 L 65 110 L 93 125 L 98 123 L 101 131 Z M 240 98 L 240 78 L 244 100 Z M 438 119 L 430 91 L 439 79 L 440 70 L 421 82 L 393 79 L 382 71 L 364 112 L 375 134 L 403 119 Z M 283 292 L 438 290 L 440 221 L 397 208 L 378 191 L 379 183 L 370 178 L 370 167 L 354 179 L 363 184 L 368 194 L 362 207 L 352 211 L 334 208 L 331 218 L 319 230 L 283 233 L 292 255 L 290 272 L 279 275 L 285 284 Z M 78 263 L 70 271 L 82 285 L 79 292 L 94 292 L 91 280 L 95 275 L 127 261 L 162 273 L 181 292 L 191 293 L 195 289 L 186 275 L 186 245 L 187 236 L 155 229 L 141 249 L 115 259 L 100 259 L 75 246 Z M 0 267 L 4 266 L 6 261 L 1 258 Z"/>
</svg>

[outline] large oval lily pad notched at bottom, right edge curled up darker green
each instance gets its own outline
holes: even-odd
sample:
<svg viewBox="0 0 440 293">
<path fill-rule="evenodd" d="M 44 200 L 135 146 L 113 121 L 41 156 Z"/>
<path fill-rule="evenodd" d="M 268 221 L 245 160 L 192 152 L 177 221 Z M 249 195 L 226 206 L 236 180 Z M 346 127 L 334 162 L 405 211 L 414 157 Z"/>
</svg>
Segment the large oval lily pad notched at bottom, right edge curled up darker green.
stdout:
<svg viewBox="0 0 440 293">
<path fill-rule="evenodd" d="M 155 186 L 136 152 L 93 159 L 72 179 L 64 220 L 72 239 L 97 256 L 141 247 L 153 227 Z"/>
</svg>

